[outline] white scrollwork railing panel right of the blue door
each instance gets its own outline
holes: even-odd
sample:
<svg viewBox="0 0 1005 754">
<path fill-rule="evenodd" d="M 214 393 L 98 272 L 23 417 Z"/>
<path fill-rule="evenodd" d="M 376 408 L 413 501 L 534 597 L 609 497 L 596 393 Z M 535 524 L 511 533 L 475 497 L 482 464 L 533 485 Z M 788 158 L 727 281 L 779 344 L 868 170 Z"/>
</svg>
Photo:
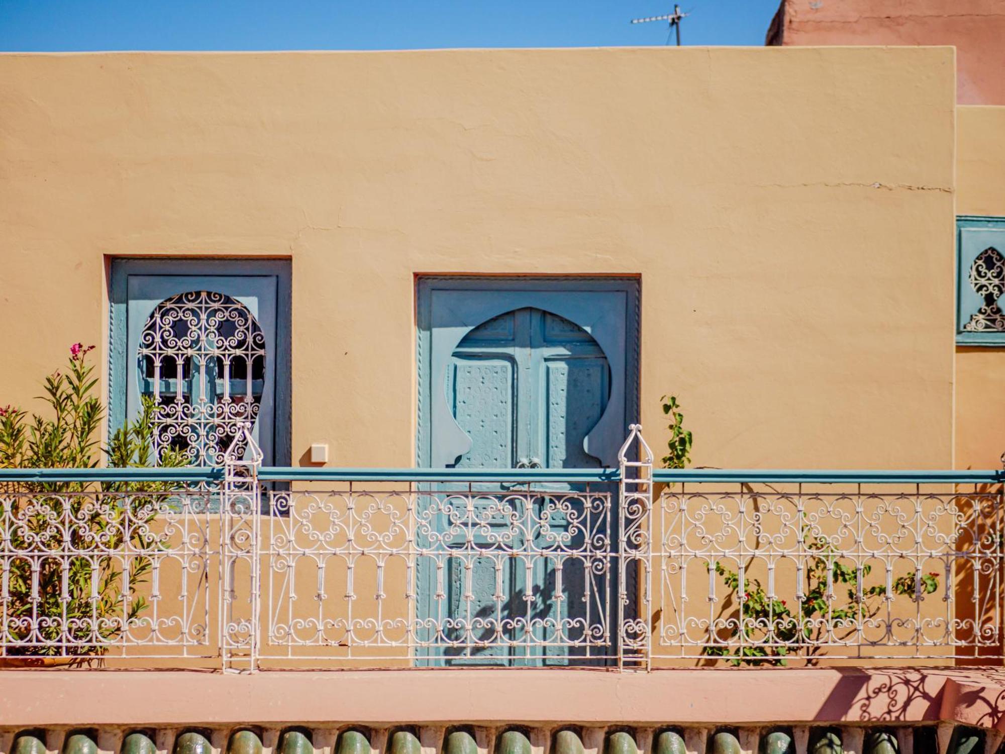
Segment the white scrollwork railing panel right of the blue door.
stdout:
<svg viewBox="0 0 1005 754">
<path fill-rule="evenodd" d="M 1001 656 L 1000 490 L 730 487 L 656 501 L 651 656 Z"/>
</svg>

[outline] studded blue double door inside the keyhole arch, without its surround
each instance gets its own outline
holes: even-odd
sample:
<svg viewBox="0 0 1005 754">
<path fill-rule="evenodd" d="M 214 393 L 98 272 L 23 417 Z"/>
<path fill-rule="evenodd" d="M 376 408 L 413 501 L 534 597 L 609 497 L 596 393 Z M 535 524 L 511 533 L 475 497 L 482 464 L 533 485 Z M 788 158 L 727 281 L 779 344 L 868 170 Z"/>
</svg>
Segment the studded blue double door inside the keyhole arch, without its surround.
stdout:
<svg viewBox="0 0 1005 754">
<path fill-rule="evenodd" d="M 444 387 L 454 420 L 470 438 L 456 467 L 600 465 L 583 442 L 607 407 L 610 367 L 575 323 L 533 307 L 494 317 L 454 349 Z M 447 640 L 490 640 L 500 632 L 520 642 L 530 626 L 529 643 L 537 645 L 459 646 L 446 652 L 452 665 L 549 664 L 585 654 L 570 643 L 588 638 L 607 603 L 608 574 L 591 573 L 589 562 L 570 555 L 584 548 L 588 501 L 563 495 L 570 485 L 547 485 L 533 498 L 508 487 L 478 486 L 477 523 L 450 540 L 459 552 L 445 562 L 446 613 L 439 623 Z M 578 492 L 585 497 L 585 488 Z M 509 537 L 515 550 L 535 554 L 507 557 L 496 543 Z M 560 538 L 566 552 L 550 545 Z M 484 548 L 482 557 L 472 557 L 472 545 Z"/>
</svg>

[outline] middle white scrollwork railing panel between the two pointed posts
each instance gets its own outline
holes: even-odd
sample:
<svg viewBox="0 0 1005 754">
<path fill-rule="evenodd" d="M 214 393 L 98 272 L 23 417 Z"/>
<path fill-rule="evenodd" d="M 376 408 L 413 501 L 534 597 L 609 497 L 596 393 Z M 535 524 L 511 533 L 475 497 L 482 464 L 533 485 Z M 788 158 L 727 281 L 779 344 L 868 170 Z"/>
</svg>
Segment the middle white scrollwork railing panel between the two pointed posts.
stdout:
<svg viewBox="0 0 1005 754">
<path fill-rule="evenodd" d="M 610 493 L 488 487 L 268 493 L 263 656 L 611 658 Z"/>
</svg>

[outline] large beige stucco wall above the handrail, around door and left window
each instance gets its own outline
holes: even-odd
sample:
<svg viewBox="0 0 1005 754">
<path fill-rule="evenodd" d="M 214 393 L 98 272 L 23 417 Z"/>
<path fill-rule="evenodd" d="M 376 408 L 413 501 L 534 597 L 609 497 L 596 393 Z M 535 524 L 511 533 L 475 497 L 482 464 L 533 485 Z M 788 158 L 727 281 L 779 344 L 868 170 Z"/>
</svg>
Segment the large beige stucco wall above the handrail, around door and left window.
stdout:
<svg viewBox="0 0 1005 754">
<path fill-rule="evenodd" d="M 694 461 L 952 462 L 951 48 L 0 55 L 0 404 L 110 255 L 292 258 L 294 462 L 414 457 L 414 273 L 637 273 Z"/>
</svg>

